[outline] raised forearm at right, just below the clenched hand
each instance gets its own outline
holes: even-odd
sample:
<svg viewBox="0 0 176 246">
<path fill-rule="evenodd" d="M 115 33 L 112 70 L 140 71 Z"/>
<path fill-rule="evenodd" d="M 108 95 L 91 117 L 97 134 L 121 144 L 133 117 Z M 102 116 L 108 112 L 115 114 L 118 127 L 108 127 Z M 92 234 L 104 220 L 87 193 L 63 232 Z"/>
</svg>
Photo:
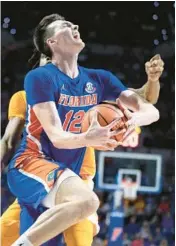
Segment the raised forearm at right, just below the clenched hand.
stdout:
<svg viewBox="0 0 176 246">
<path fill-rule="evenodd" d="M 160 92 L 160 82 L 158 81 L 151 81 L 148 80 L 145 84 L 145 99 L 152 103 L 156 104 L 159 98 L 159 92 Z"/>
</svg>

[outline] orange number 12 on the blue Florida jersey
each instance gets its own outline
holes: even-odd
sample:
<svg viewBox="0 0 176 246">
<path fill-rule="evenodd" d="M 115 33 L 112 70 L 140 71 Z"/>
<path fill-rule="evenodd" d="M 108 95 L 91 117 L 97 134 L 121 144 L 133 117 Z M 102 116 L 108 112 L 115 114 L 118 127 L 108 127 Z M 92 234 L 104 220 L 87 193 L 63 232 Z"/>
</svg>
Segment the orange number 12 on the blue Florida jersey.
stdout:
<svg viewBox="0 0 176 246">
<path fill-rule="evenodd" d="M 65 121 L 63 123 L 64 131 L 79 133 L 81 131 L 81 122 L 85 115 L 84 110 L 79 110 L 74 115 L 74 111 L 70 110 L 65 115 Z"/>
</svg>

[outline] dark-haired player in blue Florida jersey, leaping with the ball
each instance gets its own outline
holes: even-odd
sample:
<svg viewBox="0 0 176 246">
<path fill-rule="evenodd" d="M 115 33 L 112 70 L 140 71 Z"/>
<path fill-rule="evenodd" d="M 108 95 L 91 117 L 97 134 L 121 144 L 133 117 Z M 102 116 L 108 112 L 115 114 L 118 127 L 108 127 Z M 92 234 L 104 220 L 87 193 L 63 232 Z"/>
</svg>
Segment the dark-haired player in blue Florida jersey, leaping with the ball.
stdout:
<svg viewBox="0 0 176 246">
<path fill-rule="evenodd" d="M 149 125 L 159 119 L 158 110 L 129 91 L 105 70 L 78 66 L 84 48 L 78 26 L 60 15 L 46 16 L 34 33 L 38 52 L 52 63 L 30 71 L 25 78 L 28 103 L 26 128 L 8 172 L 9 187 L 21 206 L 35 212 L 48 208 L 13 245 L 41 245 L 68 227 L 96 212 L 96 195 L 77 175 L 88 146 L 113 150 L 111 131 L 118 119 L 101 127 L 92 117 L 86 133 L 80 133 L 87 110 L 104 100 L 121 102 L 130 110 L 128 126 Z M 129 115 L 126 110 L 125 114 Z"/>
</svg>

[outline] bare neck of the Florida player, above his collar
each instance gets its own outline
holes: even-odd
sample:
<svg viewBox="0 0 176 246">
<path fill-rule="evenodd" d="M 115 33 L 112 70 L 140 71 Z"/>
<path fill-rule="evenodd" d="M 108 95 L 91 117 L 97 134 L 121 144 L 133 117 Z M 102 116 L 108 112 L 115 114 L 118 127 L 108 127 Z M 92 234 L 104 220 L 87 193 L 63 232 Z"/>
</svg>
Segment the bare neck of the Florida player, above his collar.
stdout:
<svg viewBox="0 0 176 246">
<path fill-rule="evenodd" d="M 55 55 L 52 58 L 52 63 L 55 64 L 63 73 L 74 79 L 78 76 L 77 55 Z"/>
</svg>

